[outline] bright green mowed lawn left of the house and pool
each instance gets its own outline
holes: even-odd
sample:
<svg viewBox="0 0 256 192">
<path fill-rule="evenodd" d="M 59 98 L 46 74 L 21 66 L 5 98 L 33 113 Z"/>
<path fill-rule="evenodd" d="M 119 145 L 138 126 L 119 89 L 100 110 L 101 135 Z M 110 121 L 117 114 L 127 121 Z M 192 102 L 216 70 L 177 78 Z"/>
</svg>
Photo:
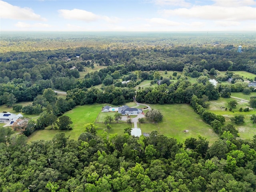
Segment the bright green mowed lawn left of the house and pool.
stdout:
<svg viewBox="0 0 256 192">
<path fill-rule="evenodd" d="M 84 132 L 84 124 L 95 122 L 99 112 L 101 112 L 102 104 L 76 106 L 64 115 L 69 116 L 73 122 L 71 127 L 73 130 L 38 130 L 28 137 L 28 141 L 34 140 L 51 140 L 56 133 L 64 132 L 66 136 L 70 135 L 71 139 L 77 140 L 80 134 Z"/>
</svg>

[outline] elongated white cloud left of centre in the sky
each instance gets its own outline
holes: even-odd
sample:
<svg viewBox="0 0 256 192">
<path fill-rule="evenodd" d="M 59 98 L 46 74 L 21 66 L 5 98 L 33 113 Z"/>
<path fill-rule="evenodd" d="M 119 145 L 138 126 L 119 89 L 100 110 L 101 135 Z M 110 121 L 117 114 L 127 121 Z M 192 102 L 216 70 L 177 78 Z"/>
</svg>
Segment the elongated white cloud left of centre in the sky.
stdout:
<svg viewBox="0 0 256 192">
<path fill-rule="evenodd" d="M 81 9 L 72 9 L 72 10 L 61 9 L 61 10 L 58 10 L 58 12 L 60 13 L 60 16 L 62 16 L 63 18 L 71 19 L 71 20 L 81 20 L 85 22 L 105 20 L 108 23 L 116 23 L 120 21 L 117 17 L 109 18 L 108 16 L 96 15 L 92 12 L 81 10 Z"/>
</svg>

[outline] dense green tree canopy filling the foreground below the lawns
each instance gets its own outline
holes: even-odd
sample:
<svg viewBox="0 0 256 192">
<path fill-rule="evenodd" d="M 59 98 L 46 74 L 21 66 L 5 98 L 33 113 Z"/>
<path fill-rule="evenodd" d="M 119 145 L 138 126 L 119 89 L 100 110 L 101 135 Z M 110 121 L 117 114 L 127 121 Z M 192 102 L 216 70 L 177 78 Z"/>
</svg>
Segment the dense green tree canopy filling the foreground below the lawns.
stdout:
<svg viewBox="0 0 256 192">
<path fill-rule="evenodd" d="M 184 144 L 157 132 L 95 136 L 78 141 L 64 133 L 26 144 L 24 135 L 0 144 L 0 190 L 76 192 L 253 192 L 256 138 L 223 135 L 212 146 L 205 138 Z"/>
</svg>

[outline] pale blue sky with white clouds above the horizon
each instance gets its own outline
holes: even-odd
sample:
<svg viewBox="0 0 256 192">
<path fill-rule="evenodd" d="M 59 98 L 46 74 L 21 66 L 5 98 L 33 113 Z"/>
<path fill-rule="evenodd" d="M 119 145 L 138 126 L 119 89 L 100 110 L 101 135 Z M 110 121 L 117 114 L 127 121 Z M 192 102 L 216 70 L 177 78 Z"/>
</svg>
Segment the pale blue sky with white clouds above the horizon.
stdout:
<svg viewBox="0 0 256 192">
<path fill-rule="evenodd" d="M 0 0 L 1 31 L 256 31 L 256 0 Z"/>
</svg>

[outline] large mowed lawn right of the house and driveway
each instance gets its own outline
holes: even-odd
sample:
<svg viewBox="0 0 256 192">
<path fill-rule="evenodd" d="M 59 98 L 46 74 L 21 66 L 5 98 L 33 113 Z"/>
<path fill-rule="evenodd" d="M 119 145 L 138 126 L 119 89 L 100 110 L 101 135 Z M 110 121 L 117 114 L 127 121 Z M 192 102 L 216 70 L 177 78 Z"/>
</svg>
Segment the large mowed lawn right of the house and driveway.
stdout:
<svg viewBox="0 0 256 192">
<path fill-rule="evenodd" d="M 210 144 L 218 140 L 218 135 L 194 112 L 189 104 L 151 104 L 150 106 L 159 110 L 164 118 L 158 125 L 142 124 L 142 132 L 157 130 L 160 134 L 176 138 L 178 142 L 184 142 L 190 137 L 197 138 L 198 135 L 205 137 Z M 184 133 L 184 130 L 188 132 Z"/>
</svg>

